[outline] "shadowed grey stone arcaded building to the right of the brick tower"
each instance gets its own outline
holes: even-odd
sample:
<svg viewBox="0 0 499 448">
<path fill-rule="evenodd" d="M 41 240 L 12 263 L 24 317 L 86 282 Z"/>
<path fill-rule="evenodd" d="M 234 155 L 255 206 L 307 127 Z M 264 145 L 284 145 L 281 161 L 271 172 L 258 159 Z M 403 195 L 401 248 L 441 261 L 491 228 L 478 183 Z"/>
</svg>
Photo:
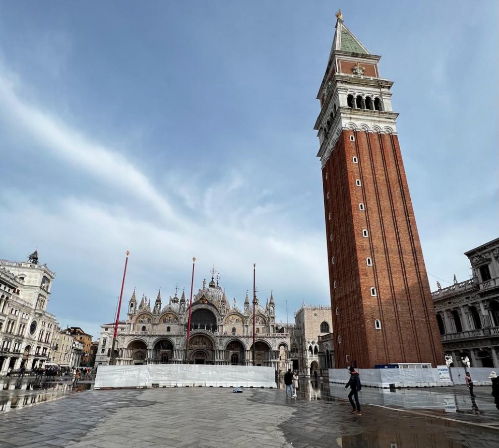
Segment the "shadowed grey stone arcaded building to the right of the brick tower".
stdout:
<svg viewBox="0 0 499 448">
<path fill-rule="evenodd" d="M 499 368 L 499 238 L 465 253 L 473 275 L 431 293 L 448 364 Z"/>
</svg>

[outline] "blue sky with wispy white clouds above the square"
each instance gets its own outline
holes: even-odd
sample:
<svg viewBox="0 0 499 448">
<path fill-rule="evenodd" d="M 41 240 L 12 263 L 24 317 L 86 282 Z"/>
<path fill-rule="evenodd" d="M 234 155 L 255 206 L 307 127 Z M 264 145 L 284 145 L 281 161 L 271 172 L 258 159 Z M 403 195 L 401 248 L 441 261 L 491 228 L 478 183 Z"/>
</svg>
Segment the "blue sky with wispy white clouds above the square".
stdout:
<svg viewBox="0 0 499 448">
<path fill-rule="evenodd" d="M 278 320 L 329 304 L 313 127 L 338 8 L 395 81 L 430 287 L 470 277 L 499 236 L 494 0 L 0 1 L 0 259 L 38 248 L 61 326 L 113 321 L 127 250 L 125 309 L 189 296 L 192 257 L 195 292 L 214 266 L 240 306 L 256 263 Z"/>
</svg>

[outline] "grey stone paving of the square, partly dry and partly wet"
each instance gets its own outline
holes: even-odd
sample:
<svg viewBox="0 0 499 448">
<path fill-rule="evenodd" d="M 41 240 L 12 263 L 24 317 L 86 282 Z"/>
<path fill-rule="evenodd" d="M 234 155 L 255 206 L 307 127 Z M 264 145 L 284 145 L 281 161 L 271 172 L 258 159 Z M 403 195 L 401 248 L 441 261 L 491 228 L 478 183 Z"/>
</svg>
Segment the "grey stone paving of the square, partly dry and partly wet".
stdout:
<svg viewBox="0 0 499 448">
<path fill-rule="evenodd" d="M 466 420 L 464 413 L 449 416 L 422 407 L 398 410 L 386 403 L 364 404 L 363 415 L 356 416 L 350 414 L 343 388 L 327 384 L 314 388 L 308 382 L 302 386 L 297 399 L 287 399 L 284 391 L 275 389 L 246 389 L 242 394 L 228 388 L 70 393 L 62 400 L 0 414 L 0 448 L 499 446 L 499 431 L 493 426 L 499 423 L 497 410 L 496 416 L 492 410 L 473 414 L 472 425 L 456 418 Z M 416 392 L 416 396 L 435 394 Z M 449 395 L 444 392 L 441 395 Z M 490 401 L 486 392 L 484 402 Z M 362 394 L 365 401 L 386 395 L 367 389 Z"/>
</svg>

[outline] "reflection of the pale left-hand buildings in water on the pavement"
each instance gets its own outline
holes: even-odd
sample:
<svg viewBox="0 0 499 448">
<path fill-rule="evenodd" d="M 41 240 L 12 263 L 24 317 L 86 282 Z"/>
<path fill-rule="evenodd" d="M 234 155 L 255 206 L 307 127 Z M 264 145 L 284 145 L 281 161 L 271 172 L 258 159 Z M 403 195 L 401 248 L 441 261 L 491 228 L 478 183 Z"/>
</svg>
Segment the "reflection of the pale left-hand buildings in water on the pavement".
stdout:
<svg viewBox="0 0 499 448">
<path fill-rule="evenodd" d="M 27 406 L 59 400 L 72 392 L 93 389 L 91 382 L 46 381 L 33 377 L 0 379 L 0 414 Z"/>
</svg>

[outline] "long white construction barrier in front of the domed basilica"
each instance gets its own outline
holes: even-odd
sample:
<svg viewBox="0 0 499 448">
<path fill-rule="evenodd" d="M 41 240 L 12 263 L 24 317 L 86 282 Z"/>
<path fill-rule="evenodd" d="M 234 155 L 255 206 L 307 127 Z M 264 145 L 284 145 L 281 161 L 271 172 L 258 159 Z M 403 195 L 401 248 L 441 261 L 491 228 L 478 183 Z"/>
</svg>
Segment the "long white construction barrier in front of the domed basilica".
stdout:
<svg viewBox="0 0 499 448">
<path fill-rule="evenodd" d="M 245 365 L 100 365 L 95 389 L 150 387 L 275 388 L 273 367 Z"/>
</svg>

